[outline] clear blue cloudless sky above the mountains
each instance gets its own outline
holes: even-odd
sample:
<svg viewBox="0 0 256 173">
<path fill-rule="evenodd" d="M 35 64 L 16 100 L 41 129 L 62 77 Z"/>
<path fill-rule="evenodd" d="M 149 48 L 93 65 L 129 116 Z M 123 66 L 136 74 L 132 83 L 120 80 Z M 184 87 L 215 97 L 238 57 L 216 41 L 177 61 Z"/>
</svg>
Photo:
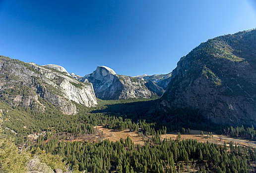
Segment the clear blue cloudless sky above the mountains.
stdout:
<svg viewBox="0 0 256 173">
<path fill-rule="evenodd" d="M 171 72 L 210 38 L 256 28 L 255 0 L 0 0 L 0 54 L 84 76 Z"/>
</svg>

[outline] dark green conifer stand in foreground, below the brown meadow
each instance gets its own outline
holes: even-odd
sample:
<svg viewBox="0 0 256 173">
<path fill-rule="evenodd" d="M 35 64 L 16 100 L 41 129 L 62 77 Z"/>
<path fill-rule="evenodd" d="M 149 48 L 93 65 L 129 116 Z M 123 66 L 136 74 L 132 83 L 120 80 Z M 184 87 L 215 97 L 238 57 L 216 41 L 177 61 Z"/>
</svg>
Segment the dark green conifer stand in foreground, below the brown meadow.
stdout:
<svg viewBox="0 0 256 173">
<path fill-rule="evenodd" d="M 157 135 L 155 138 L 158 138 Z M 155 139 L 152 139 L 152 142 Z M 247 173 L 248 161 L 255 161 L 256 153 L 252 149 L 233 147 L 226 152 L 216 144 L 200 143 L 196 140 L 174 141 L 164 139 L 153 143 L 134 146 L 128 137 L 125 142 L 99 143 L 88 142 L 58 142 L 42 146 L 48 152 L 64 157 L 79 171 L 88 172 L 176 172 L 184 169 L 184 164 L 193 161 L 206 165 L 214 172 L 231 170 L 232 173 Z M 234 164 L 235 163 L 235 164 Z"/>
</svg>

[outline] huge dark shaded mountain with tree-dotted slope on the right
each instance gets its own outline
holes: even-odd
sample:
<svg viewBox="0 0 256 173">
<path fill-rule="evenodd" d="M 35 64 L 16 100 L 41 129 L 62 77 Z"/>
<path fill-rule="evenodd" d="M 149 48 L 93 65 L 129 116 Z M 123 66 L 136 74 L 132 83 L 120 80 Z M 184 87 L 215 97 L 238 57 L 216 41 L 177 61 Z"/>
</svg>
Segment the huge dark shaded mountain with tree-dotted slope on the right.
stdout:
<svg viewBox="0 0 256 173">
<path fill-rule="evenodd" d="M 256 30 L 201 43 L 180 59 L 160 99 L 218 124 L 256 125 Z"/>
</svg>

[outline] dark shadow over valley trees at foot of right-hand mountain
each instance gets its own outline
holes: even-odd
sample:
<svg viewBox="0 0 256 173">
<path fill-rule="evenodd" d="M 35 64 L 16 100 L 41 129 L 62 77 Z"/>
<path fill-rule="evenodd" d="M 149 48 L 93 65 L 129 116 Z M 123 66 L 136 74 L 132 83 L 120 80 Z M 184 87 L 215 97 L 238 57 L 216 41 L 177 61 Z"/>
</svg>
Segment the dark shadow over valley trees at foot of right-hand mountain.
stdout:
<svg viewBox="0 0 256 173">
<path fill-rule="evenodd" d="M 135 123 L 138 120 L 145 120 L 146 123 L 155 123 L 156 129 L 161 129 L 163 126 L 169 127 L 169 131 L 181 130 L 182 128 L 217 131 L 223 128 L 203 117 L 198 110 L 158 107 L 158 101 L 159 99 L 113 103 L 105 105 L 103 109 L 93 110 L 91 113 L 104 113 L 122 117 L 123 120 L 131 119 Z"/>
</svg>

